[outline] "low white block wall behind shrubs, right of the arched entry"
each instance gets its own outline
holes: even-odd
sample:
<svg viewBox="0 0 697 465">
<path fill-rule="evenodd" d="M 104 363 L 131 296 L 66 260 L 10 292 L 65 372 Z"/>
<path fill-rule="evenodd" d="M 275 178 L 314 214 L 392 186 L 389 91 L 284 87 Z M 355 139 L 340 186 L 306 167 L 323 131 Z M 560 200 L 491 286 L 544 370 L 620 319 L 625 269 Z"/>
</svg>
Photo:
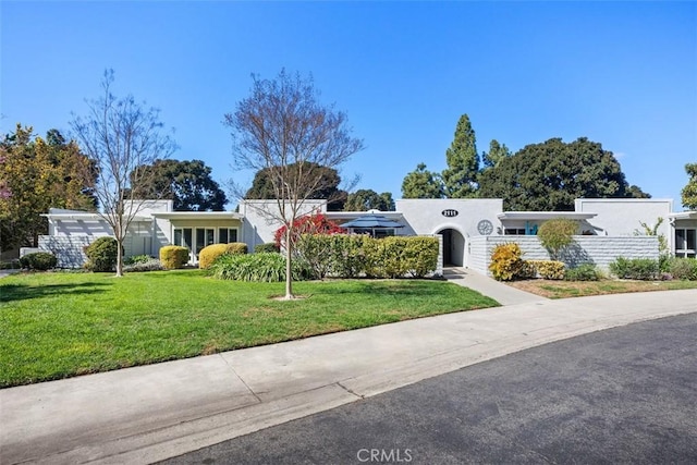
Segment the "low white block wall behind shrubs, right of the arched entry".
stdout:
<svg viewBox="0 0 697 465">
<path fill-rule="evenodd" d="M 573 245 L 563 257 L 570 266 L 584 262 L 595 264 L 608 270 L 617 257 L 658 259 L 658 237 L 656 236 L 574 236 Z M 514 242 L 521 246 L 526 260 L 549 260 L 549 253 L 537 236 L 479 236 L 470 241 L 469 268 L 491 276 L 489 262 L 493 248 L 499 244 Z"/>
</svg>

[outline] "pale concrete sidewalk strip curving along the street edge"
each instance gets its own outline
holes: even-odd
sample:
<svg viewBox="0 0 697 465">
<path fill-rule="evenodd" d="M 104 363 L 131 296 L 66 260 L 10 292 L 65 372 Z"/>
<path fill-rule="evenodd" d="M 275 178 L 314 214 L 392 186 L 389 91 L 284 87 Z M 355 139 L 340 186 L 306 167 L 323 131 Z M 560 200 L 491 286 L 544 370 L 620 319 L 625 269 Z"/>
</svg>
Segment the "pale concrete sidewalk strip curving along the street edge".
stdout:
<svg viewBox="0 0 697 465">
<path fill-rule="evenodd" d="M 547 342 L 693 311 L 697 290 L 538 299 L 0 390 L 0 462 L 151 463 Z"/>
</svg>

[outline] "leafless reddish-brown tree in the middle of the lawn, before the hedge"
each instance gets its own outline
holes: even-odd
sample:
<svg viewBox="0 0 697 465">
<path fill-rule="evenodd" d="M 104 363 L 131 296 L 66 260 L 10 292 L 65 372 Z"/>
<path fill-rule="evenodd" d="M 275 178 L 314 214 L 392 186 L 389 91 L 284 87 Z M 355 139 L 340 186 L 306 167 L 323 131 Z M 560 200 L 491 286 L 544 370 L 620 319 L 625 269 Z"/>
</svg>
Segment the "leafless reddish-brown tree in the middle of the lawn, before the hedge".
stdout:
<svg viewBox="0 0 697 465">
<path fill-rule="evenodd" d="M 261 213 L 285 227 L 285 298 L 292 299 L 293 222 L 306 212 L 306 200 L 326 187 L 321 168 L 338 168 L 364 144 L 352 137 L 343 112 L 319 102 L 311 76 L 281 70 L 274 79 L 252 78 L 252 95 L 223 124 L 232 133 L 233 166 L 268 173 L 277 208 Z M 243 189 L 234 191 L 243 197 Z"/>
</svg>

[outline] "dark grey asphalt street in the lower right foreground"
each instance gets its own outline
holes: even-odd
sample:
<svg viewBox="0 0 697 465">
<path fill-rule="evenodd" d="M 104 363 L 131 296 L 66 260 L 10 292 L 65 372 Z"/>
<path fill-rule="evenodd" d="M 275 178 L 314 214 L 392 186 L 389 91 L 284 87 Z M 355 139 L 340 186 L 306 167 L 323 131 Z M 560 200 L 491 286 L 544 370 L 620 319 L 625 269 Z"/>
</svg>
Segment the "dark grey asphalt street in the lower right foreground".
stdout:
<svg viewBox="0 0 697 465">
<path fill-rule="evenodd" d="M 166 464 L 695 464 L 697 314 L 549 343 Z"/>
</svg>

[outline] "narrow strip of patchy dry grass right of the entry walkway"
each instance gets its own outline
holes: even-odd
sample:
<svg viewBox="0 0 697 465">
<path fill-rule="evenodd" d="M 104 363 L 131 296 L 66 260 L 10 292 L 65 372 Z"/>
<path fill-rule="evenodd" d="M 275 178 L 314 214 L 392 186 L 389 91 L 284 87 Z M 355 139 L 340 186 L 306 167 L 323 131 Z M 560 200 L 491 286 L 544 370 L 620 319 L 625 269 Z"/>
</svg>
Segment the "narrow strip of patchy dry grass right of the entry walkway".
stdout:
<svg viewBox="0 0 697 465">
<path fill-rule="evenodd" d="M 525 280 L 508 283 L 513 287 L 549 298 L 583 297 L 588 295 L 621 294 L 627 292 L 672 291 L 697 289 L 696 281 L 553 281 Z"/>
</svg>

